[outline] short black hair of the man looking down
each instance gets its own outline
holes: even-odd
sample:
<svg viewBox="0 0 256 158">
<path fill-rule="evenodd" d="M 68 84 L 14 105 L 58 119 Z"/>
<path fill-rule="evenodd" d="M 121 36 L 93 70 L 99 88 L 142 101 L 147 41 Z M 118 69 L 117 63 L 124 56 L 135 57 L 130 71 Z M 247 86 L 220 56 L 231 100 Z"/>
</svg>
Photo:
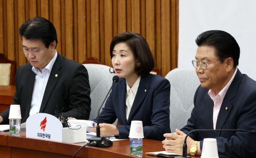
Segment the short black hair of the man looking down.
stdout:
<svg viewBox="0 0 256 158">
<path fill-rule="evenodd" d="M 53 23 L 42 17 L 28 19 L 19 27 L 19 35 L 27 40 L 40 39 L 46 48 L 55 40 L 58 43 L 56 29 Z"/>
</svg>

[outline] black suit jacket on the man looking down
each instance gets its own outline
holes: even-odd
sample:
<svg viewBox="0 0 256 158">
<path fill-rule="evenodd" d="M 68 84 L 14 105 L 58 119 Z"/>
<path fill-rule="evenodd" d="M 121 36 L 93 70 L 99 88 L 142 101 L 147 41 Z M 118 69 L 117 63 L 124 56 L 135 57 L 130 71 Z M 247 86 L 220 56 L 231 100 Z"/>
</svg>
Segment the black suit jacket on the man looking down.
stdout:
<svg viewBox="0 0 256 158">
<path fill-rule="evenodd" d="M 13 104 L 20 105 L 22 123 L 29 117 L 35 75 L 31 64 L 27 63 L 19 66 L 15 76 Z M 82 64 L 60 54 L 57 54 L 53 64 L 39 112 L 54 115 L 56 105 L 59 110 L 63 108 L 66 118 L 89 119 L 90 85 L 87 70 Z M 3 124 L 9 124 L 9 111 L 8 108 L 0 114 L 4 119 Z"/>
</svg>

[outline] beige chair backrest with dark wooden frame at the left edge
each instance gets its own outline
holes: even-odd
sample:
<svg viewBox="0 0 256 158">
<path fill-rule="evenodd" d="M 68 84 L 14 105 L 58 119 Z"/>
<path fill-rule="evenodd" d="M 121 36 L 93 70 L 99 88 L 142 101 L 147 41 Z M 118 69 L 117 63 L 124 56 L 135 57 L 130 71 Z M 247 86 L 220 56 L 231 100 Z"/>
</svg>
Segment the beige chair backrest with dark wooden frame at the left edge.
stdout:
<svg viewBox="0 0 256 158">
<path fill-rule="evenodd" d="M 15 85 L 15 62 L 0 54 L 0 85 Z"/>
</svg>

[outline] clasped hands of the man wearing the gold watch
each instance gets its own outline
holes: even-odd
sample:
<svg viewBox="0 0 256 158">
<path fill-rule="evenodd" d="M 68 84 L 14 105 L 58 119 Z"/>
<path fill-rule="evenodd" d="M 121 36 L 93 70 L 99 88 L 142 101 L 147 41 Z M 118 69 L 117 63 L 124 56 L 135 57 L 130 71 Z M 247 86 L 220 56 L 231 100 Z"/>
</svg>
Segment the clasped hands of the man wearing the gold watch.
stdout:
<svg viewBox="0 0 256 158">
<path fill-rule="evenodd" d="M 184 132 L 181 132 L 178 129 L 175 130 L 175 133 L 166 133 L 164 134 L 164 137 L 166 137 L 166 139 L 162 141 L 162 143 L 164 144 L 163 147 L 169 153 L 182 154 L 185 136 L 186 134 Z M 188 136 L 187 138 L 188 154 L 190 154 L 189 147 L 192 145 L 193 142 L 194 140 L 192 140 Z"/>
</svg>

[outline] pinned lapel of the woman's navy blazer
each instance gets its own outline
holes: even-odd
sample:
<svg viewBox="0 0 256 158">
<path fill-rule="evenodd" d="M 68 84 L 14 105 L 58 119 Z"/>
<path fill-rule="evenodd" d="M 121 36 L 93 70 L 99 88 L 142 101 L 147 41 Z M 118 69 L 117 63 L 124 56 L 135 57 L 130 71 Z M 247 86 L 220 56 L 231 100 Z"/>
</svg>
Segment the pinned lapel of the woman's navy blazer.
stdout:
<svg viewBox="0 0 256 158">
<path fill-rule="evenodd" d="M 150 78 L 151 77 L 148 74 L 147 76 L 141 77 L 140 79 L 138 91 L 136 93 L 134 102 L 132 104 L 132 109 L 129 114 L 128 123 L 131 122 L 133 115 L 136 114 L 137 109 L 141 106 L 141 103 L 143 102 L 147 95 L 150 85 Z"/>
</svg>

